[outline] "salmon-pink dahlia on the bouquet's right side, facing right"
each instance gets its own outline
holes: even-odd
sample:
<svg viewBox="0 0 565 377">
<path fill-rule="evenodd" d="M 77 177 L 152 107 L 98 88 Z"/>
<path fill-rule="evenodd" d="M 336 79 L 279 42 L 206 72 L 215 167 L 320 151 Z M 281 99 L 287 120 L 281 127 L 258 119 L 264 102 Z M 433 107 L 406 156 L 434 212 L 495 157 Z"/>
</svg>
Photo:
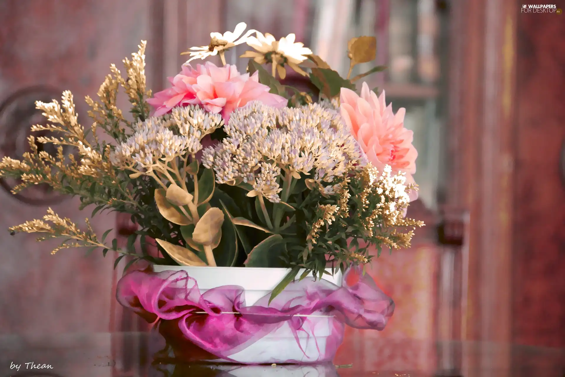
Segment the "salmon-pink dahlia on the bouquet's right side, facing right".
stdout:
<svg viewBox="0 0 565 377">
<path fill-rule="evenodd" d="M 406 183 L 414 183 L 412 174 L 416 172 L 418 152 L 412 145 L 414 133 L 404 128 L 406 110 L 402 108 L 394 114 L 392 105 L 385 104 L 384 90 L 377 97 L 367 83 L 363 83 L 361 96 L 341 88 L 340 103 L 341 116 L 368 161 L 381 171 L 385 165 L 390 165 L 393 174 L 405 172 Z M 416 198 L 418 193 L 412 190 L 410 199 Z"/>
</svg>

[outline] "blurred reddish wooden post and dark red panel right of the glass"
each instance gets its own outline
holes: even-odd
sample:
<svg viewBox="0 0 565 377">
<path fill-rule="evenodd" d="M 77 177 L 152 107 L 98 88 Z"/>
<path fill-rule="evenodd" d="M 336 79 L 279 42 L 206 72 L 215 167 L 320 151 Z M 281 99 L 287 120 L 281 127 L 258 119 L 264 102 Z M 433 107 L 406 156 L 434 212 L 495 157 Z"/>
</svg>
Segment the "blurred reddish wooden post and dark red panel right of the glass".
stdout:
<svg viewBox="0 0 565 377">
<path fill-rule="evenodd" d="M 464 332 L 563 346 L 563 14 L 516 0 L 449 4 L 449 203 L 471 214 Z"/>
</svg>

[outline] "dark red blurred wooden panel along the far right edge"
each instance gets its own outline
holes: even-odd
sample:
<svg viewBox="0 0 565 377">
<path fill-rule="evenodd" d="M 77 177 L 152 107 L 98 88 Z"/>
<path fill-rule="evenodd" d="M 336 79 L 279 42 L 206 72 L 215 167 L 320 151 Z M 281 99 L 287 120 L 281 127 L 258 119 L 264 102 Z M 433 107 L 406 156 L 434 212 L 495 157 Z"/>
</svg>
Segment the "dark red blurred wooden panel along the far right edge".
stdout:
<svg viewBox="0 0 565 377">
<path fill-rule="evenodd" d="M 564 21 L 519 13 L 516 49 L 512 337 L 553 347 L 565 347 Z"/>
</svg>

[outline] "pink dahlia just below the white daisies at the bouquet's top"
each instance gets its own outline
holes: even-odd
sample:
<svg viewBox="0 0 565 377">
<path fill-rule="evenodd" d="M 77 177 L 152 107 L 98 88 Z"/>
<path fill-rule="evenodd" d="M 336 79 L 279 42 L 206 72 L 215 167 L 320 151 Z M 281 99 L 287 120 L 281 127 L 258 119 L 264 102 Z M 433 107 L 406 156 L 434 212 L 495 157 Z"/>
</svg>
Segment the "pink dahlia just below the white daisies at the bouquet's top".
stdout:
<svg viewBox="0 0 565 377">
<path fill-rule="evenodd" d="M 155 93 L 147 102 L 155 107 L 154 116 L 166 114 L 175 106 L 200 105 L 206 111 L 221 113 L 225 122 L 234 109 L 250 101 L 261 101 L 275 107 L 286 106 L 286 99 L 269 93 L 267 85 L 259 83 L 258 72 L 240 75 L 236 66 L 226 64 L 216 67 L 214 63 L 182 66 L 175 77 L 168 78 L 172 88 Z"/>
</svg>

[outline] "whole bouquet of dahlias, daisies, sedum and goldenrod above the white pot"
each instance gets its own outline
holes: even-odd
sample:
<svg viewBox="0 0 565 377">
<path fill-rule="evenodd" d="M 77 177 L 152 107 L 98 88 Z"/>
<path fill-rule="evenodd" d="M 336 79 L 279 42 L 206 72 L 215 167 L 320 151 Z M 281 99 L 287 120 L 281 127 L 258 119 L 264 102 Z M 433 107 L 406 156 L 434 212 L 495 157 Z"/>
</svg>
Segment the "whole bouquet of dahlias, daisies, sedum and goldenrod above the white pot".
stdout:
<svg viewBox="0 0 565 377">
<path fill-rule="evenodd" d="M 138 230 L 127 246 L 108 241 L 110 231 L 95 235 L 88 219 L 79 229 L 51 209 L 10 232 L 63 239 L 53 254 L 112 250 L 120 254 L 115 266 L 131 255 L 129 263 L 290 268 L 271 298 L 301 269 L 301 279 L 321 278 L 328 266 L 369 263 L 370 246 L 378 254 L 408 247 L 423 225 L 405 218 L 416 190 L 412 132 L 403 127 L 404 110 L 394 114 L 384 92 L 377 96 L 363 83 L 355 93 L 359 79 L 384 67 L 350 77 L 356 64 L 375 59 L 375 38 L 349 42 L 343 78 L 294 34 L 277 41 L 245 28 L 212 33 L 210 45 L 192 47 L 171 87 L 153 97 L 142 41 L 123 61 L 125 77 L 112 64 L 98 99 L 86 97 L 90 127 L 79 123 L 71 92 L 63 92 L 60 102 L 36 103 L 50 124 L 32 131 L 53 136 L 29 137 L 31 152 L 21 161 L 2 159 L 0 176 L 21 180 L 14 193 L 47 184 L 79 196 L 81 209 L 92 205 L 92 216 L 131 215 Z M 250 60 L 240 73 L 225 64 L 224 53 L 244 43 L 250 50 L 241 58 Z M 212 55 L 224 65 L 189 63 Z M 287 68 L 318 91 L 281 83 Z M 131 116 L 116 107 L 120 88 Z M 58 153 L 38 150 L 37 143 L 54 144 Z M 63 146 L 76 153 L 64 155 Z M 147 252 L 148 239 L 157 241 L 160 256 Z"/>
</svg>

